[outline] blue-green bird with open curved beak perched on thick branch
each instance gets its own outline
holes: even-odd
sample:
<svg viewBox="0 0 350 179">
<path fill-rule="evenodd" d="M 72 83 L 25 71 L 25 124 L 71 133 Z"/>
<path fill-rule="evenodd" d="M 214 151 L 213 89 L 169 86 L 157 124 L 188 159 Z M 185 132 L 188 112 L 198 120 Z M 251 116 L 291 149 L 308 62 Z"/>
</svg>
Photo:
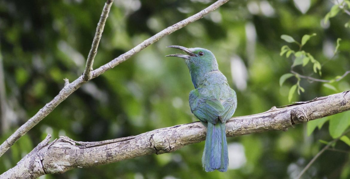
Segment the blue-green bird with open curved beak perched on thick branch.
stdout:
<svg viewBox="0 0 350 179">
<path fill-rule="evenodd" d="M 230 88 L 226 77 L 219 71 L 213 53 L 202 48 L 186 48 L 171 45 L 184 54 L 172 54 L 166 57 L 180 57 L 190 70 L 195 87 L 190 92 L 191 112 L 207 127 L 207 137 L 202 157 L 203 168 L 207 172 L 227 171 L 229 164 L 225 123 L 235 113 L 237 107 L 236 92 Z"/>
</svg>

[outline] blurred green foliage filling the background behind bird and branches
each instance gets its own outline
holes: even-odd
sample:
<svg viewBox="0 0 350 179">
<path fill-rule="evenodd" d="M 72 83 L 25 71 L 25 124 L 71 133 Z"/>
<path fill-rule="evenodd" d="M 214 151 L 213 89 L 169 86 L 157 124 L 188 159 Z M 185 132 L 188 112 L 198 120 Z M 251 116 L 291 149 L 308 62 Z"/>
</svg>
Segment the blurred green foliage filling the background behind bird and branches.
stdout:
<svg viewBox="0 0 350 179">
<path fill-rule="evenodd" d="M 213 2 L 114 1 L 94 68 Z M 0 42 L 9 106 L 6 120 L 11 126 L 1 131 L 1 142 L 57 95 L 64 78 L 73 81 L 82 74 L 103 6 L 104 2 L 97 0 L 0 1 Z M 220 70 L 237 92 L 234 116 L 289 104 L 288 92 L 297 79 L 288 78 L 282 87 L 279 85 L 294 60 L 279 55 L 281 46 L 287 45 L 281 35 L 302 42 L 303 35 L 317 34 L 303 50 L 324 64 L 322 76 L 314 74 L 319 79 L 331 80 L 350 69 L 350 33 L 344 27 L 350 16 L 339 10 L 325 22 L 332 6 L 328 0 L 229 1 L 84 84 L 0 158 L 0 173 L 13 167 L 48 133 L 53 138 L 66 135 L 78 141 L 101 141 L 197 121 L 188 106 L 193 89 L 188 69 L 180 59 L 164 57 L 175 52 L 165 48 L 168 45 L 204 47 L 216 55 Z M 342 40 L 332 58 L 337 38 Z M 308 65 L 305 69 L 295 66 L 294 70 L 309 75 L 313 68 Z M 301 80 L 305 92 L 291 100 L 306 101 L 349 90 L 349 80 L 346 76 L 333 82 L 334 89 Z M 344 128 L 338 124 L 349 121 L 349 115 L 315 120 L 312 130 L 296 125 L 287 132 L 230 137 L 230 170 L 225 173 L 203 171 L 202 142 L 169 154 L 42 178 L 294 178 L 324 146 L 318 140 L 330 141 L 339 135 L 329 134 L 328 126 Z M 335 148 L 349 151 L 344 142 L 337 142 Z M 349 153 L 326 151 L 303 177 L 349 178 L 349 166 Z"/>
</svg>

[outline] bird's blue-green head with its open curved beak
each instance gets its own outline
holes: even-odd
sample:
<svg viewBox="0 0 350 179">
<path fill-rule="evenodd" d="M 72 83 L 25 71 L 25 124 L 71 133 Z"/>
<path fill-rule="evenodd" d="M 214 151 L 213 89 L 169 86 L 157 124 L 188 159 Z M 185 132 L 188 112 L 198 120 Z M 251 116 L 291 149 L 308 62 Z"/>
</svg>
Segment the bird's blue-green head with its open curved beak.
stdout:
<svg viewBox="0 0 350 179">
<path fill-rule="evenodd" d="M 198 70 L 202 71 L 203 73 L 218 70 L 218 64 L 215 59 L 215 56 L 213 53 L 211 53 L 207 49 L 203 48 L 186 48 L 179 45 L 170 45 L 167 47 L 172 47 L 175 49 L 180 49 L 184 52 L 186 52 L 188 55 L 184 54 L 172 54 L 167 55 L 166 57 L 180 57 L 185 59 L 185 62 L 190 69 L 190 71 L 197 71 L 197 68 L 200 68 Z"/>
</svg>

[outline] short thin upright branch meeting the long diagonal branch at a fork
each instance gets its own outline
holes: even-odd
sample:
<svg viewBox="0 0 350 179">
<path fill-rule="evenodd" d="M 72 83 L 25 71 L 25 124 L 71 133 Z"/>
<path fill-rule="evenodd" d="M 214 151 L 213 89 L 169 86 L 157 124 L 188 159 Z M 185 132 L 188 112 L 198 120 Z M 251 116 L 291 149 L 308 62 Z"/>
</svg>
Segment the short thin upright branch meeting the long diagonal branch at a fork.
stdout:
<svg viewBox="0 0 350 179">
<path fill-rule="evenodd" d="M 85 70 L 84 70 L 84 74 L 83 74 L 83 79 L 85 81 L 91 79 L 93 60 L 96 56 L 97 47 L 98 47 L 98 44 L 100 43 L 100 40 L 102 37 L 102 32 L 103 32 L 103 29 L 105 27 L 106 20 L 108 18 L 108 14 L 110 12 L 112 4 L 113 4 L 113 0 L 107 0 L 107 2 L 105 3 L 105 6 L 103 7 L 100 20 L 97 24 L 96 33 L 95 33 L 95 36 L 93 37 L 93 40 L 92 40 L 91 49 L 90 49 L 89 55 L 87 56 L 86 66 L 85 66 Z"/>
</svg>

